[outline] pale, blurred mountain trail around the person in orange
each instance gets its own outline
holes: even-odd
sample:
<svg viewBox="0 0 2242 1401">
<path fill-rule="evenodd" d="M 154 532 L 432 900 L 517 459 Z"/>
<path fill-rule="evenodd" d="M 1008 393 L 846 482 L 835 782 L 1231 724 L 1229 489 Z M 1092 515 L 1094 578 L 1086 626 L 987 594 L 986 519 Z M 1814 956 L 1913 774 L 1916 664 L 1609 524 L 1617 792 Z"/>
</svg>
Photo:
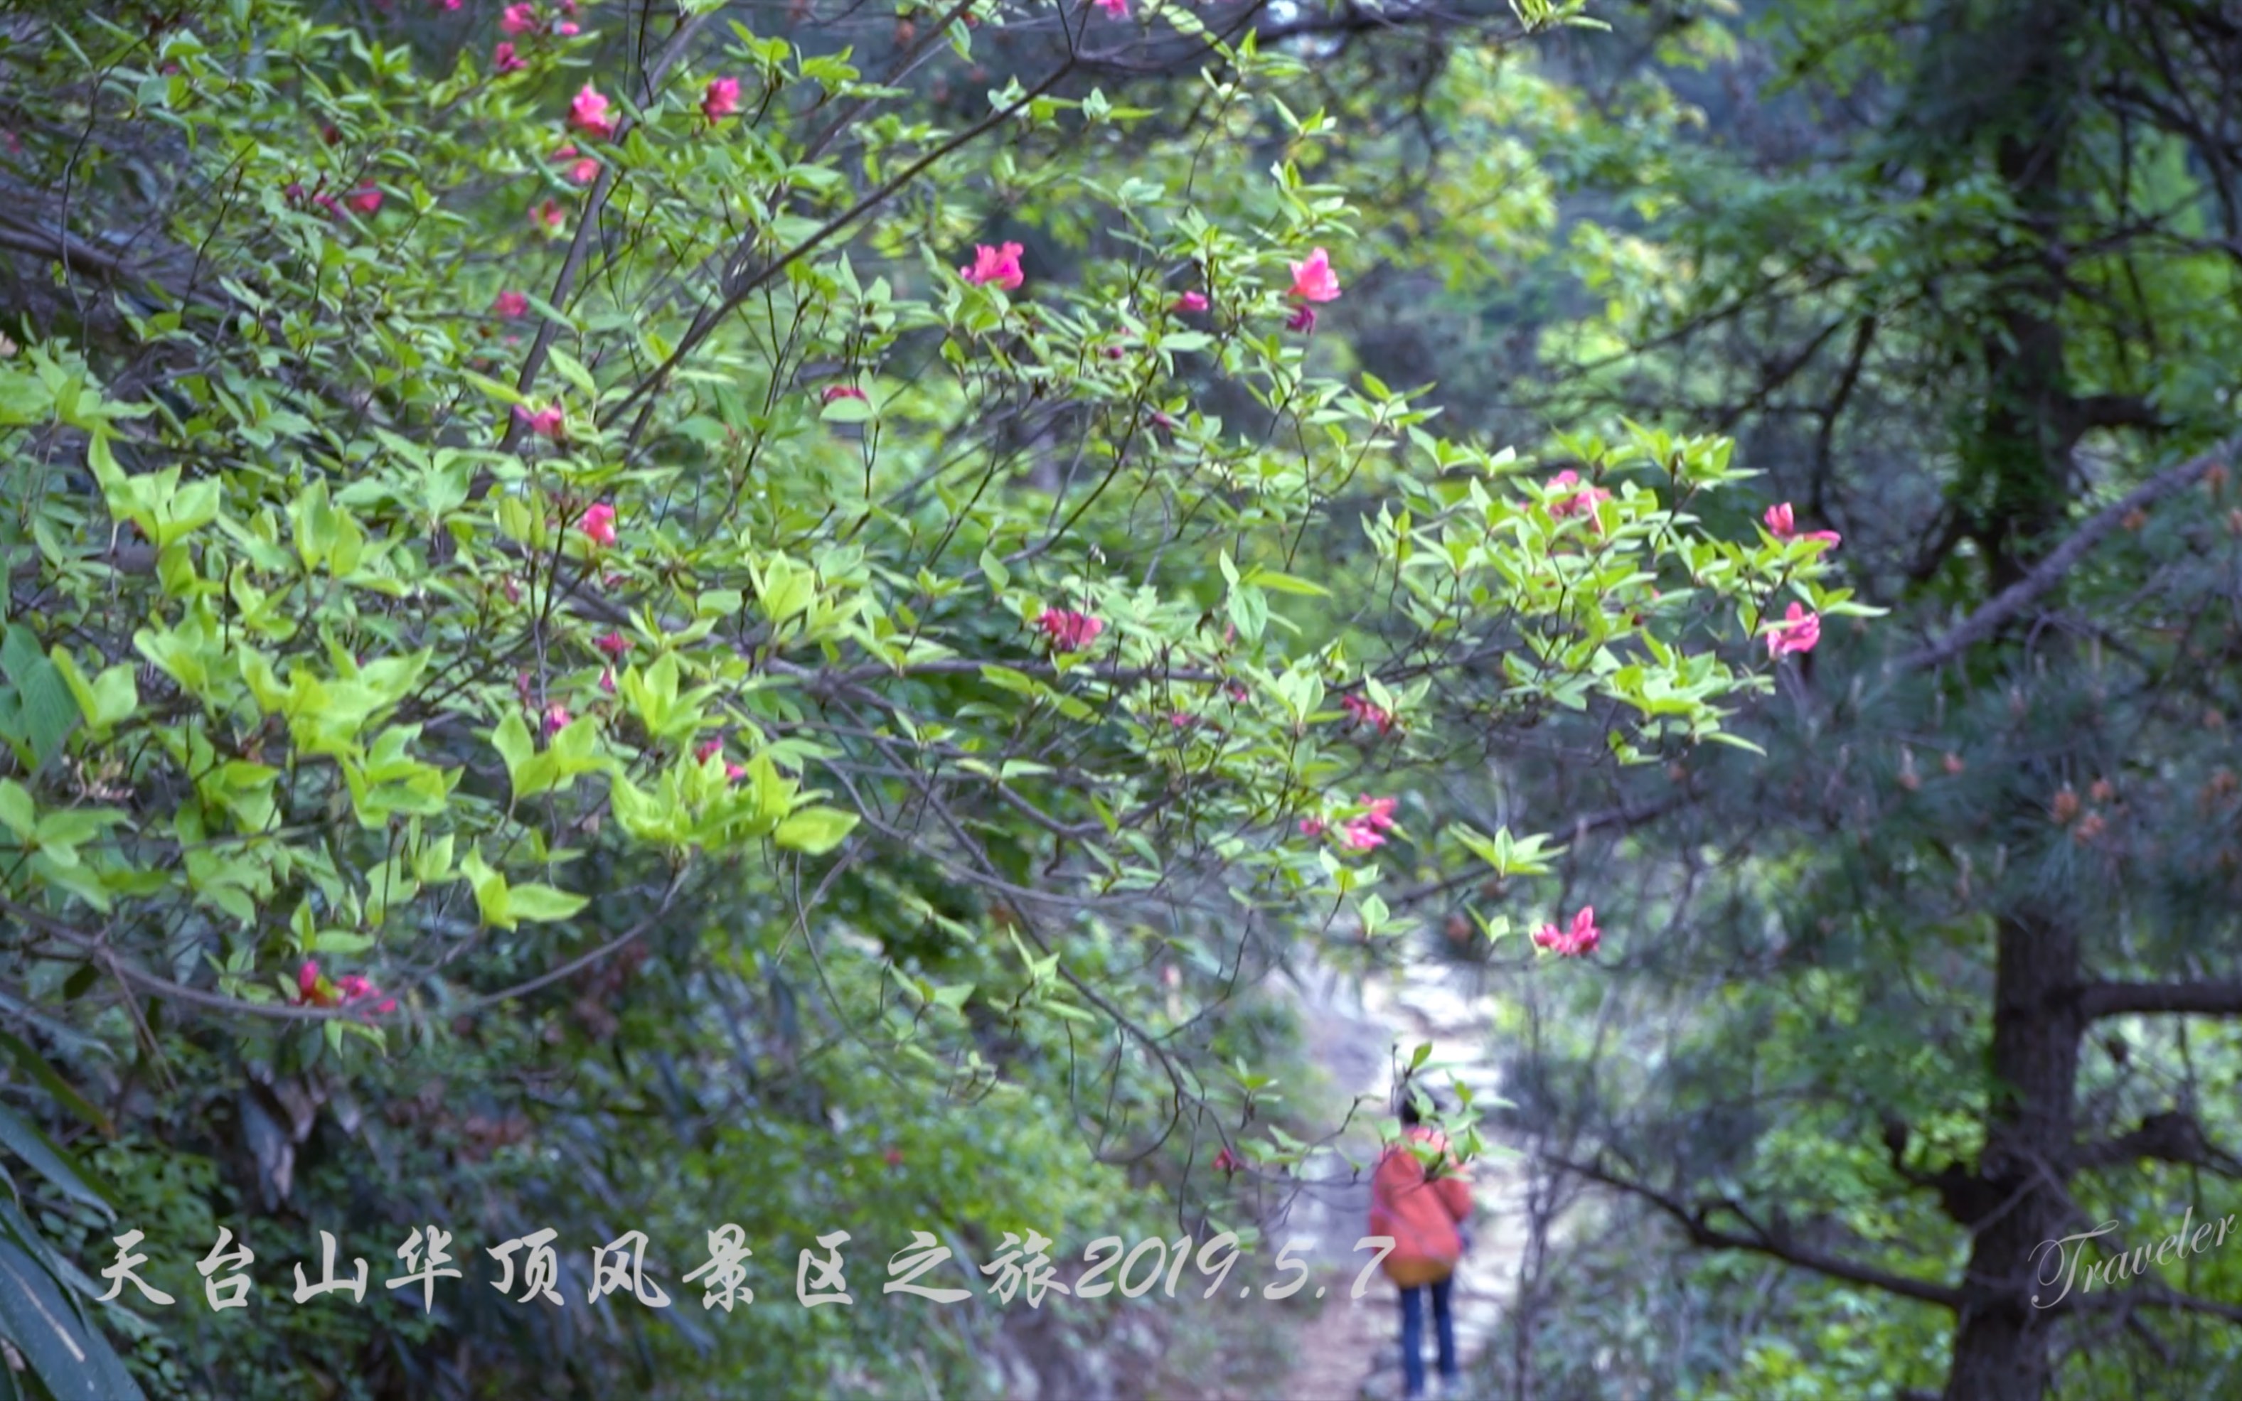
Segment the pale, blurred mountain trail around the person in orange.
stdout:
<svg viewBox="0 0 2242 1401">
<path fill-rule="evenodd" d="M 1363 1298 L 1350 1298 L 1368 1253 L 1354 1242 L 1368 1231 L 1370 1163 L 1379 1125 L 1388 1119 L 1397 1056 L 1430 1042 L 1426 1069 L 1435 1089 L 1451 1076 L 1491 1105 L 1500 1071 L 1486 1060 L 1493 1002 L 1469 986 L 1471 973 L 1412 950 L 1399 971 L 1354 989 L 1330 971 L 1312 971 L 1300 989 L 1309 1054 L 1330 1078 L 1332 1107 L 1356 1105 L 1354 1123 L 1334 1145 L 1363 1166 L 1356 1175 L 1336 1150 L 1318 1152 L 1303 1177 L 1307 1186 L 1271 1224 L 1271 1240 L 1314 1237 L 1309 1258 L 1330 1271 L 1323 1311 L 1300 1334 L 1296 1361 L 1271 1397 L 1287 1401 L 1388 1401 L 1401 1394 L 1401 1311 L 1395 1287 L 1372 1278 Z M 1457 1269 L 1453 1309 L 1455 1347 L 1471 1363 L 1493 1340 L 1527 1249 L 1520 1197 L 1525 1177 L 1511 1159 L 1473 1163 L 1473 1249 Z M 1430 1318 L 1426 1372 L 1433 1374 Z M 1466 1392 L 1469 1394 L 1469 1392 Z"/>
</svg>

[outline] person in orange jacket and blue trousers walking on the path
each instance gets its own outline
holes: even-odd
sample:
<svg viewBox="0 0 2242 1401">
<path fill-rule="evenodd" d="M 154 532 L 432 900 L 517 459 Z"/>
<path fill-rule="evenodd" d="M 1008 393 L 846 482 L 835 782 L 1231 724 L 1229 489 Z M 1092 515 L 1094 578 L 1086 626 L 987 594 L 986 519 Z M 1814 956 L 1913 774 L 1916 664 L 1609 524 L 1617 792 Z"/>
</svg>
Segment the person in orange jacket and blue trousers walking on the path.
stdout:
<svg viewBox="0 0 2242 1401">
<path fill-rule="evenodd" d="M 1386 1275 L 1401 1289 L 1401 1394 L 1410 1399 L 1424 1397 L 1426 1293 L 1433 1296 L 1442 1390 L 1455 1392 L 1462 1383 L 1448 1287 L 1455 1262 L 1464 1258 L 1462 1224 L 1471 1217 L 1471 1181 L 1448 1152 L 1448 1139 L 1421 1121 L 1415 1094 L 1401 1092 L 1401 1141 L 1386 1150 L 1370 1177 L 1370 1235 L 1395 1242 Z M 1424 1145 L 1424 1157 L 1417 1145 Z"/>
</svg>

